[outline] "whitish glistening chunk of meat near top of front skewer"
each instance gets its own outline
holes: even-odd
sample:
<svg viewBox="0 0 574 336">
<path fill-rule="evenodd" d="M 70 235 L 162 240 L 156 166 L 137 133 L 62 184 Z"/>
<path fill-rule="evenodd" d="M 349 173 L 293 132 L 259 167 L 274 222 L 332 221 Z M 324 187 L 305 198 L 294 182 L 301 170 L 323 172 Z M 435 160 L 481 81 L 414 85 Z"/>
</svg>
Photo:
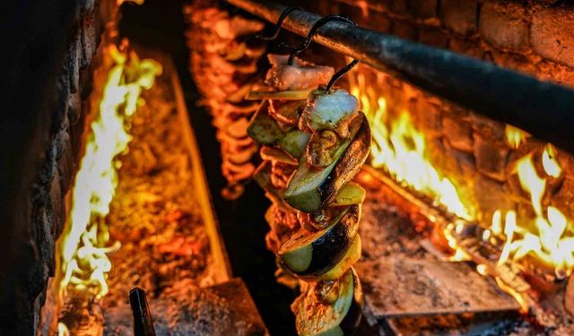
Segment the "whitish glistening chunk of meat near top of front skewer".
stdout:
<svg viewBox="0 0 574 336">
<path fill-rule="evenodd" d="M 349 135 L 349 123 L 357 116 L 359 100 L 343 89 L 315 90 L 309 94 L 300 116 L 301 131 L 332 130 L 341 137 Z"/>
</svg>

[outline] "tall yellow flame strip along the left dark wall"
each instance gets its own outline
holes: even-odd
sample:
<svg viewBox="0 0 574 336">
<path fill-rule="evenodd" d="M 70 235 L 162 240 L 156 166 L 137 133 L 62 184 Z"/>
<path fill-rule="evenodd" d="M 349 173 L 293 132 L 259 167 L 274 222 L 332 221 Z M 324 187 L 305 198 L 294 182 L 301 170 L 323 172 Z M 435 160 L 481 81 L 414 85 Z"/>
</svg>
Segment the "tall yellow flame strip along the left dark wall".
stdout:
<svg viewBox="0 0 574 336">
<path fill-rule="evenodd" d="M 117 186 L 117 168 L 121 166 L 115 158 L 126 151 L 131 141 L 130 120 L 143 103 L 142 91 L 150 89 L 161 73 L 160 64 L 140 60 L 134 52 L 128 55 L 111 46 L 105 53 L 115 65 L 104 84 L 99 116 L 90 125 L 91 134 L 74 180 L 69 228 L 62 240 L 61 296 L 68 286 L 90 289 L 96 297 L 108 293 L 106 272 L 111 263 L 107 254 L 119 248 L 118 242 L 109 246 L 104 220 Z"/>
</svg>

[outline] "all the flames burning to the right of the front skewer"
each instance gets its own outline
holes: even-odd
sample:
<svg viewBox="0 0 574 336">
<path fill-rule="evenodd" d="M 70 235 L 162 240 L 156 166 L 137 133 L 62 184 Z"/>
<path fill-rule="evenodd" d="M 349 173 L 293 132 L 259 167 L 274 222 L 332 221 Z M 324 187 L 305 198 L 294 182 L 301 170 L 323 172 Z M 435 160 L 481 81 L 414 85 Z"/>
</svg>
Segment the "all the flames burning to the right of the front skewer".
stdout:
<svg viewBox="0 0 574 336">
<path fill-rule="evenodd" d="M 434 168 L 428 159 L 425 134 L 417 130 L 407 110 L 395 116 L 388 113 L 387 100 L 377 91 L 383 75 L 374 73 L 376 81 L 366 80 L 365 74 L 354 71 L 349 74 L 352 94 L 359 98 L 361 110 L 369 119 L 373 142 L 370 165 L 384 168 L 387 173 L 403 185 L 430 196 L 434 202 L 446 207 L 462 221 L 443 228 L 443 236 L 455 252 L 451 261 L 469 260 L 465 250 L 459 246 L 457 236 L 474 219 L 474 204 L 461 199 L 457 187 L 448 177 Z M 510 147 L 518 149 L 531 135 L 525 131 L 506 126 L 506 141 Z M 536 162 L 535 162 L 536 161 Z M 535 163 L 538 165 L 536 166 Z M 548 182 L 562 175 L 557 159 L 557 151 L 547 144 L 541 152 L 531 152 L 517 159 L 514 174 L 520 187 L 528 195 L 535 212 L 535 219 L 527 219 L 514 209 L 494 211 L 491 226 L 483 231 L 483 241 L 500 246 L 499 266 L 509 261 L 535 262 L 544 268 L 553 269 L 559 278 L 570 275 L 574 269 L 574 228 L 570 220 L 556 207 L 544 205 L 548 194 Z M 539 168 L 536 168 L 539 167 Z M 478 271 L 487 273 L 485 265 L 478 265 Z M 496 277 L 496 272 L 490 275 Z M 502 280 L 497 280 L 502 283 Z M 524 307 L 524 297 L 500 285 Z"/>
</svg>

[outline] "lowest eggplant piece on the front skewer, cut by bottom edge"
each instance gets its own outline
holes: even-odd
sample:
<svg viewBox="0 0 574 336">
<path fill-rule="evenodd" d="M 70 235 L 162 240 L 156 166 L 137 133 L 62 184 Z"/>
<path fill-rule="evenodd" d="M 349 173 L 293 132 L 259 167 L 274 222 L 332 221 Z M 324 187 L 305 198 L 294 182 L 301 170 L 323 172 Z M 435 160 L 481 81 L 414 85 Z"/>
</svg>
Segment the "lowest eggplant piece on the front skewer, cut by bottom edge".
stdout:
<svg viewBox="0 0 574 336">
<path fill-rule="evenodd" d="M 291 306 L 300 336 L 349 335 L 361 322 L 359 276 L 349 269 L 335 282 L 306 283 Z"/>
</svg>

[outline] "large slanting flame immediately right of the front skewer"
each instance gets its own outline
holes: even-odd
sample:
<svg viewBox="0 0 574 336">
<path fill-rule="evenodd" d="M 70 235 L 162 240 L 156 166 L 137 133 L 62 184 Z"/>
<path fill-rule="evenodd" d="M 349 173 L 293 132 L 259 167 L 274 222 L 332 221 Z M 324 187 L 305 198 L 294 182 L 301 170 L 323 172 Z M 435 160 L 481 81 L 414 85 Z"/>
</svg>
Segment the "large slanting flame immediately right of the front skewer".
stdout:
<svg viewBox="0 0 574 336">
<path fill-rule="evenodd" d="M 458 217 L 472 220 L 455 185 L 427 159 L 426 138 L 414 127 L 409 112 L 403 111 L 395 120 L 387 120 L 386 99 L 367 86 L 363 73 L 352 73 L 350 81 L 351 92 L 359 97 L 361 110 L 371 125 L 370 165 L 387 169 L 397 181 L 430 195 Z"/>
</svg>

